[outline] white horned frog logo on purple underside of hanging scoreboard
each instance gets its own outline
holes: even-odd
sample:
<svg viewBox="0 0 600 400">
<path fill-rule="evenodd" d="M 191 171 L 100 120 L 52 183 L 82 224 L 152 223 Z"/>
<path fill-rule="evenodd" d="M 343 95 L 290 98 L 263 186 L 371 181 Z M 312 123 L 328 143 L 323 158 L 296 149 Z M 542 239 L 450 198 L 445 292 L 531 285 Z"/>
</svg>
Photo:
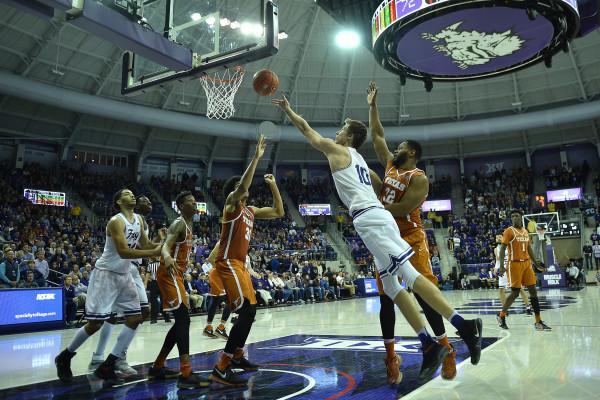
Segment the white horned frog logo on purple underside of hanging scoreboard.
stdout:
<svg viewBox="0 0 600 400">
<path fill-rule="evenodd" d="M 462 23 L 463 21 L 459 21 L 447 26 L 435 35 L 427 32 L 421 34 L 423 39 L 433 43 L 446 42 L 436 44 L 433 48 L 451 57 L 460 69 L 487 64 L 497 57 L 513 54 L 525 43 L 510 29 L 502 33 L 459 31 L 458 27 Z"/>
</svg>

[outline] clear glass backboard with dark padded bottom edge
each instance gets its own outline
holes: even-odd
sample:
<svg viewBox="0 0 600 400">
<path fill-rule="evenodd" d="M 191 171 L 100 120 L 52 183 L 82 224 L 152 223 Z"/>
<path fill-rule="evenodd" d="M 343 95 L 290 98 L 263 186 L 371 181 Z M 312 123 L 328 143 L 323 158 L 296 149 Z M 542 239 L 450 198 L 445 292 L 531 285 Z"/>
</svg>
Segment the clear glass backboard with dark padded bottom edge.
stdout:
<svg viewBox="0 0 600 400">
<path fill-rule="evenodd" d="M 123 56 L 121 93 L 144 92 L 270 57 L 279 48 L 278 8 L 268 0 L 139 0 L 148 29 L 189 48 L 193 67 L 169 70 L 133 52 Z"/>
</svg>

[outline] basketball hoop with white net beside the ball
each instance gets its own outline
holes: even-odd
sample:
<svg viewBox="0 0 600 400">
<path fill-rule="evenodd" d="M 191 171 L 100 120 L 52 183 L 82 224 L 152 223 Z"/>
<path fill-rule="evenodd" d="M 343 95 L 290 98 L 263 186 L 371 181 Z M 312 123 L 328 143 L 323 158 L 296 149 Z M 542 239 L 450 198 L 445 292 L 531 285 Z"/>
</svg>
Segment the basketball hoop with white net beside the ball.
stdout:
<svg viewBox="0 0 600 400">
<path fill-rule="evenodd" d="M 206 116 L 208 118 L 228 119 L 235 113 L 233 98 L 242 84 L 246 71 L 237 66 L 200 78 L 206 93 Z"/>
</svg>

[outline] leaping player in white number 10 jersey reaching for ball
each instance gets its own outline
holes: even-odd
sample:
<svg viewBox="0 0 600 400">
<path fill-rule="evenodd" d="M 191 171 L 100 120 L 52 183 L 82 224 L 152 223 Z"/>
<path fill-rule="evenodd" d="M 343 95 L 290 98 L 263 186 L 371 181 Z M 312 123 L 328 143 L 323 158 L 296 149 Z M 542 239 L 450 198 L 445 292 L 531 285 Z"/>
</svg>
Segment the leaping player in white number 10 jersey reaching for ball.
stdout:
<svg viewBox="0 0 600 400">
<path fill-rule="evenodd" d="M 346 119 L 335 136 L 327 139 L 310 127 L 296 114 L 284 97 L 273 99 L 302 132 L 315 149 L 329 161 L 333 181 L 342 202 L 352 215 L 354 229 L 373 254 L 379 271 L 383 290 L 400 308 L 400 311 L 419 336 L 423 345 L 423 364 L 419 377 L 429 379 L 448 354 L 448 348 L 437 343 L 427 332 L 423 318 L 417 311 L 408 292 L 402 288 L 399 277 L 406 286 L 419 294 L 435 311 L 444 316 L 458 330 L 471 353 L 471 363 L 477 364 L 481 357 L 481 319 L 463 319 L 446 301 L 437 287 L 419 274 L 409 259 L 412 248 L 400 237 L 400 231 L 392 214 L 377 199 L 369 176 L 369 167 L 356 150 L 366 140 L 367 128 L 359 121 Z"/>
</svg>

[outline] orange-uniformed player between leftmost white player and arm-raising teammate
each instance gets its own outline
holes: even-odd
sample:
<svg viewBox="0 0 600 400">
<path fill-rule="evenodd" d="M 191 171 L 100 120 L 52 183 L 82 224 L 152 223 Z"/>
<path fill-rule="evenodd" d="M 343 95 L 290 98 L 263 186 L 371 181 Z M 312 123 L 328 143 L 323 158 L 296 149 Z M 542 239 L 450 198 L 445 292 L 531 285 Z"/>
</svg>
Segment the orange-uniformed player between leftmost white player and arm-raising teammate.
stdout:
<svg viewBox="0 0 600 400">
<path fill-rule="evenodd" d="M 167 239 L 162 247 L 160 266 L 156 273 L 163 309 L 173 312 L 175 323 L 167 332 L 162 349 L 160 349 L 154 365 L 148 371 L 148 378 L 171 379 L 179 375 L 176 371 L 165 367 L 167 356 L 177 344 L 181 371 L 181 375 L 177 380 L 177 387 L 195 389 L 210 385 L 209 381 L 192 373 L 190 363 L 190 303 L 183 285 L 183 274 L 192 250 L 192 217 L 197 212 L 196 199 L 192 192 L 183 191 L 177 195 L 175 203 L 181 216 L 169 226 Z"/>
</svg>

